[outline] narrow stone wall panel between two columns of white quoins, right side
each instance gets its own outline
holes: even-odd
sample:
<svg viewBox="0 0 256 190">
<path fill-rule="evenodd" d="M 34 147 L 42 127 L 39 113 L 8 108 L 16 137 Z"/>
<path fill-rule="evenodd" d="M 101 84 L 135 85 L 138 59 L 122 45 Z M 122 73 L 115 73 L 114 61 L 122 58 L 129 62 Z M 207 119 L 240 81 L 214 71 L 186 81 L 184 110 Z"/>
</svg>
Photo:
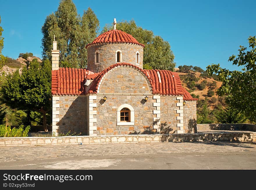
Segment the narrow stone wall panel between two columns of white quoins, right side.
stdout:
<svg viewBox="0 0 256 190">
<path fill-rule="evenodd" d="M 161 133 L 162 134 L 172 134 L 177 133 L 177 124 L 180 123 L 180 120 L 177 120 L 177 117 L 180 116 L 177 113 L 179 110 L 179 99 L 176 99 L 176 96 L 161 96 L 160 99 L 160 110 L 161 110 Z"/>
</svg>

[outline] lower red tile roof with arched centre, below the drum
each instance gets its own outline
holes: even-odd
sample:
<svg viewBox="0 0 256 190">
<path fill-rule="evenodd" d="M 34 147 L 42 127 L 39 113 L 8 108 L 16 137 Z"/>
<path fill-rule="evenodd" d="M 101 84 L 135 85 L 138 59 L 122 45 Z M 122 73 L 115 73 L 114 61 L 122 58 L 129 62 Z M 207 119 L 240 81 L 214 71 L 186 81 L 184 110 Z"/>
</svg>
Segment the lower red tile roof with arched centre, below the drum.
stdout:
<svg viewBox="0 0 256 190">
<path fill-rule="evenodd" d="M 93 80 L 87 93 L 97 93 L 102 77 L 112 68 L 117 66 L 136 68 L 145 74 L 149 80 L 153 94 L 183 95 L 184 100 L 197 100 L 192 98 L 181 85 L 178 73 L 169 70 L 146 70 L 129 63 L 117 63 L 111 65 L 100 73 L 93 73 L 87 69 L 59 68 L 52 70 L 51 93 L 53 95 L 80 95 L 85 94 L 85 79 Z"/>
</svg>

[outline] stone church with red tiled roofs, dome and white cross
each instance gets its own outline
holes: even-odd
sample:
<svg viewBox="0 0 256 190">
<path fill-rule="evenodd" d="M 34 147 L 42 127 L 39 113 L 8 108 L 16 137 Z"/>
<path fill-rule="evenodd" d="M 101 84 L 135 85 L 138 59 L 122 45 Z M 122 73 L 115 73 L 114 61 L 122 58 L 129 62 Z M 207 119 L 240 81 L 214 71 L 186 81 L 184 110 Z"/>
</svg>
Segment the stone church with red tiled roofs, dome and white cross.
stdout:
<svg viewBox="0 0 256 190">
<path fill-rule="evenodd" d="M 88 67 L 60 68 L 52 50 L 52 131 L 82 135 L 196 132 L 196 100 L 169 70 L 143 69 L 143 48 L 121 30 L 86 46 Z"/>
</svg>

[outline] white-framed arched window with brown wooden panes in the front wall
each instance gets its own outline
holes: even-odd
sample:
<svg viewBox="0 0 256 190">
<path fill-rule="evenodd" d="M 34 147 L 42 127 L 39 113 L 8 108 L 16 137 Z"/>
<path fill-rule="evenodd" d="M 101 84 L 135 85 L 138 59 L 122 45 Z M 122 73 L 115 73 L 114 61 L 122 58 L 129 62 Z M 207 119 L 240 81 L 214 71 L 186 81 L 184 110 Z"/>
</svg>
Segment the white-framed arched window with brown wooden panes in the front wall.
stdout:
<svg viewBox="0 0 256 190">
<path fill-rule="evenodd" d="M 129 104 L 122 104 L 117 109 L 116 125 L 134 125 L 134 108 Z"/>
</svg>

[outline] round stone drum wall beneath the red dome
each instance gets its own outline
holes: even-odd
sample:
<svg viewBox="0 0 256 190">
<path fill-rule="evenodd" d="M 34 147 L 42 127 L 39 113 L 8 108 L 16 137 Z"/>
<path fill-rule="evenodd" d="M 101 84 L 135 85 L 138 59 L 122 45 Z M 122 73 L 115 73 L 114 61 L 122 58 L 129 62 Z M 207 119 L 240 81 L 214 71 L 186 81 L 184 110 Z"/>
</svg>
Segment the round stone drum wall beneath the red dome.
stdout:
<svg viewBox="0 0 256 190">
<path fill-rule="evenodd" d="M 94 54 L 98 50 L 100 54 L 99 63 L 95 64 Z M 122 51 L 121 62 L 134 64 L 139 68 L 143 68 L 143 47 L 133 44 L 104 44 L 97 46 L 90 46 L 87 48 L 88 52 L 88 66 L 87 68 L 94 73 L 101 72 L 109 66 L 115 64 L 116 50 Z M 136 52 L 140 53 L 140 63 L 136 64 Z"/>
</svg>

